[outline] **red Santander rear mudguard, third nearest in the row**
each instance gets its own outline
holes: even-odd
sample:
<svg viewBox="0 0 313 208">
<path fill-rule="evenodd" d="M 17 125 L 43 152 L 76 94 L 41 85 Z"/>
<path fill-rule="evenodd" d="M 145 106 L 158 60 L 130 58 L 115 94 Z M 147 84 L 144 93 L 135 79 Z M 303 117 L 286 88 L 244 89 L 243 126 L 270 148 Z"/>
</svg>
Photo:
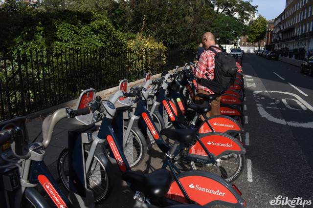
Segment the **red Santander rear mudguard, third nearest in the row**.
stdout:
<svg viewBox="0 0 313 208">
<path fill-rule="evenodd" d="M 228 116 L 211 116 L 208 118 L 209 124 L 213 127 L 215 132 L 238 132 L 244 133 L 243 126 L 236 120 Z M 198 133 L 204 134 L 208 132 L 213 132 L 206 122 L 202 122 L 198 128 Z"/>
</svg>

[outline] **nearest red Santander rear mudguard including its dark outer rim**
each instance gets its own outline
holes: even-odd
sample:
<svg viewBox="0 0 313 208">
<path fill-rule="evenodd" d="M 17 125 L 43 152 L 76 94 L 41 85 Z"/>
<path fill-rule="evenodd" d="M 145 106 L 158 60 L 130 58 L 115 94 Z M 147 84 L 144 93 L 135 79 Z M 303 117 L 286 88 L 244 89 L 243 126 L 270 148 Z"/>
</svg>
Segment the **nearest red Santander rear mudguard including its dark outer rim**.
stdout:
<svg viewBox="0 0 313 208">
<path fill-rule="evenodd" d="M 245 201 L 232 185 L 215 174 L 193 170 L 179 174 L 178 178 L 190 200 L 198 205 L 212 207 L 221 204 L 236 208 L 244 207 Z M 165 197 L 188 204 L 175 180 Z"/>
</svg>

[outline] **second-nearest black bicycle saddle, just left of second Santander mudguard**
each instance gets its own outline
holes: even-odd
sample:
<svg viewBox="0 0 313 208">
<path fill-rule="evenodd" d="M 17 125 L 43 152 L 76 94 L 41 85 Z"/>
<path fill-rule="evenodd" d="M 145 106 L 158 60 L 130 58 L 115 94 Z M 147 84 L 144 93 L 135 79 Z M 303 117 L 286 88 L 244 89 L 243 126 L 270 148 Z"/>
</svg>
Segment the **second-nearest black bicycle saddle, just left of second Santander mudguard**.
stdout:
<svg viewBox="0 0 313 208">
<path fill-rule="evenodd" d="M 164 128 L 160 134 L 171 137 L 180 143 L 190 143 L 197 135 L 195 129 L 168 129 Z"/>
</svg>

